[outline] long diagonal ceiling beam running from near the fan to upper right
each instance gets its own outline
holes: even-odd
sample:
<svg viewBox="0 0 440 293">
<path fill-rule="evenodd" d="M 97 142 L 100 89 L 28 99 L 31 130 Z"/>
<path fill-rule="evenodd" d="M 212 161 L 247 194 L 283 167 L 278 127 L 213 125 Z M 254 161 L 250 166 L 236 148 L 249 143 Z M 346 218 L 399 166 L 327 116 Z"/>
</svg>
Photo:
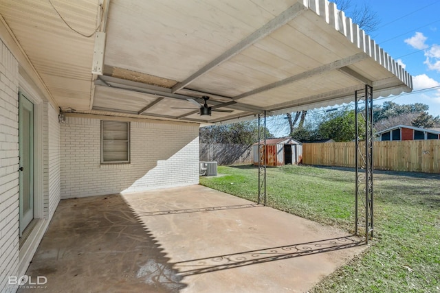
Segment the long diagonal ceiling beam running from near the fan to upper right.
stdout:
<svg viewBox="0 0 440 293">
<path fill-rule="evenodd" d="M 209 71 L 214 69 L 214 67 L 221 65 L 221 63 L 236 56 L 241 51 L 250 47 L 261 38 L 268 36 L 275 30 L 277 30 L 279 27 L 282 27 L 286 23 L 289 23 L 289 21 L 292 21 L 292 19 L 300 15 L 305 10 L 307 10 L 307 7 L 305 7 L 305 5 L 299 2 L 290 6 L 289 8 L 287 8 L 287 10 L 276 16 L 274 19 L 272 19 L 262 27 L 260 27 L 259 30 L 256 30 L 255 32 L 253 32 L 252 34 L 241 40 L 240 43 L 237 43 L 236 45 L 234 45 L 234 47 L 228 49 L 228 51 L 225 51 L 223 54 L 221 54 L 220 56 L 209 62 L 207 65 L 203 66 L 197 72 L 190 75 L 189 78 L 186 78 L 186 80 L 184 80 L 183 82 L 179 82 L 178 84 L 175 84 L 175 86 L 171 88 L 172 93 L 179 91 L 179 89 L 183 89 L 185 86 L 193 82 L 195 79 L 199 78 L 199 76 L 208 73 Z"/>
</svg>

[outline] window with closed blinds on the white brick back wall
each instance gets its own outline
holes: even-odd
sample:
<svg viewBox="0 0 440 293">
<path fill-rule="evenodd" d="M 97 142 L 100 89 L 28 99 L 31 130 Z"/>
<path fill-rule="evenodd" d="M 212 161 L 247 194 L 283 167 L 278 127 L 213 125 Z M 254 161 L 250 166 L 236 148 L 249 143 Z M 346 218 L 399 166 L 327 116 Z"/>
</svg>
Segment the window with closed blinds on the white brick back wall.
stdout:
<svg viewBox="0 0 440 293">
<path fill-rule="evenodd" d="M 101 163 L 130 163 L 130 122 L 101 121 Z"/>
</svg>

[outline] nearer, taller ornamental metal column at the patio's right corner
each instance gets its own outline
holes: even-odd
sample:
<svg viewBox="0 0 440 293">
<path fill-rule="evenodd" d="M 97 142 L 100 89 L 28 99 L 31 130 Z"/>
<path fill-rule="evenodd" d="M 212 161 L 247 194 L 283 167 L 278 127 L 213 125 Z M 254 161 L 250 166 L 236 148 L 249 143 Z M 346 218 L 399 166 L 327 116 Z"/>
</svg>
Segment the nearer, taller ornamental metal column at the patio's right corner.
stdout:
<svg viewBox="0 0 440 293">
<path fill-rule="evenodd" d="M 362 108 L 362 100 L 364 108 Z M 358 117 L 362 123 L 358 123 Z M 363 125 L 362 125 L 363 124 Z M 355 91 L 355 234 L 365 227 L 365 242 L 373 237 L 373 88 Z M 360 169 L 362 171 L 360 171 Z M 362 204 L 359 204 L 362 202 Z M 363 216 L 364 214 L 364 216 Z"/>
</svg>

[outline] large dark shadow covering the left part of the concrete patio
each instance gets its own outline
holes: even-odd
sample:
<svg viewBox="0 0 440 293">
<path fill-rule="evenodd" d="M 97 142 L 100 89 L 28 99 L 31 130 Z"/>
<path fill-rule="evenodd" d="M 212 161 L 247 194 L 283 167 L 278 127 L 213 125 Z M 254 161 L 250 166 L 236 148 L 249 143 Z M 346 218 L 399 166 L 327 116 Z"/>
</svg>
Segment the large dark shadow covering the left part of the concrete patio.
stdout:
<svg viewBox="0 0 440 293">
<path fill-rule="evenodd" d="M 44 292 L 186 288 L 151 232 L 118 195 L 62 200 L 26 274 L 46 277 Z"/>
</svg>

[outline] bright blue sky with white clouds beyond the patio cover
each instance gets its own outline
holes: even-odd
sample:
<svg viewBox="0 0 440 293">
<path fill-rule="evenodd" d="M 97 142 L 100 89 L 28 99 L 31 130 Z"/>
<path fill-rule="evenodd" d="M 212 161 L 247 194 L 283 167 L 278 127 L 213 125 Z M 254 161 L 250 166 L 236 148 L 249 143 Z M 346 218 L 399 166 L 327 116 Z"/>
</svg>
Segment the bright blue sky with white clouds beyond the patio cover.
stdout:
<svg viewBox="0 0 440 293">
<path fill-rule="evenodd" d="M 352 0 L 367 3 L 380 25 L 369 35 L 412 75 L 414 93 L 386 99 L 397 104 L 428 104 L 431 115 L 440 115 L 440 1 Z"/>
</svg>

